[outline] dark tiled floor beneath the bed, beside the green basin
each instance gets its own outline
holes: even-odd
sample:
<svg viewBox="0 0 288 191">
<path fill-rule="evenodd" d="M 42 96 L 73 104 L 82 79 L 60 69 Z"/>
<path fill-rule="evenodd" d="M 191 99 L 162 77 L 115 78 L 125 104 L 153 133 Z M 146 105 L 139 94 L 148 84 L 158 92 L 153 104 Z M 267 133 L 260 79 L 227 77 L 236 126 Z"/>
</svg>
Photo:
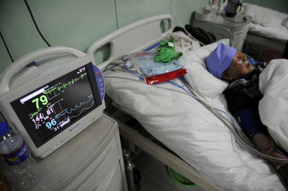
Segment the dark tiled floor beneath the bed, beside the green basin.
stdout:
<svg viewBox="0 0 288 191">
<path fill-rule="evenodd" d="M 204 191 L 200 187 L 188 188 L 170 178 L 165 164 L 145 151 L 138 154 L 138 170 L 141 173 L 140 191 Z"/>
</svg>

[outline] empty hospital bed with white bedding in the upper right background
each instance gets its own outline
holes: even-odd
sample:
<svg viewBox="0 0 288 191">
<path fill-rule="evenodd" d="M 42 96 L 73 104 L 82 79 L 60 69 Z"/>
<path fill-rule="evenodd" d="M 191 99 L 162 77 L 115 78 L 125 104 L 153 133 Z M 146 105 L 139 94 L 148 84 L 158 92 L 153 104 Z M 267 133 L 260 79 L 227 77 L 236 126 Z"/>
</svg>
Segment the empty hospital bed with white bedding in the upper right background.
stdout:
<svg viewBox="0 0 288 191">
<path fill-rule="evenodd" d="M 282 26 L 281 23 L 283 19 L 288 17 L 288 14 L 248 3 L 243 4 L 243 7 L 244 14 L 253 18 L 249 24 L 243 51 L 259 61 L 261 59 L 266 61 L 265 56 L 267 54 L 270 54 L 271 58 L 282 58 L 281 54 L 283 54 L 288 40 L 288 29 Z M 267 24 L 267 22 L 267 26 L 259 24 L 259 19 L 265 17 L 265 15 L 269 16 L 273 26 L 270 23 Z"/>
</svg>

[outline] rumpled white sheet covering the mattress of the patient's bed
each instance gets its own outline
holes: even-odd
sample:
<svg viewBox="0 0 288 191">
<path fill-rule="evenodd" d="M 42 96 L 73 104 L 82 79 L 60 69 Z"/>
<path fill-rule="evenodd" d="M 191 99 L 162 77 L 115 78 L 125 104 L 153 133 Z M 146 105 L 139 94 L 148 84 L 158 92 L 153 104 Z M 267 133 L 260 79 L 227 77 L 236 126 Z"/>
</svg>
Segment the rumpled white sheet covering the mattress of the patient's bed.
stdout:
<svg viewBox="0 0 288 191">
<path fill-rule="evenodd" d="M 223 190 L 285 190 L 282 177 L 267 160 L 247 152 L 217 117 L 189 95 L 109 76 L 138 78 L 106 71 L 106 93 L 204 178 Z M 160 86 L 181 90 L 169 83 Z M 229 113 L 223 94 L 209 103 Z"/>
</svg>

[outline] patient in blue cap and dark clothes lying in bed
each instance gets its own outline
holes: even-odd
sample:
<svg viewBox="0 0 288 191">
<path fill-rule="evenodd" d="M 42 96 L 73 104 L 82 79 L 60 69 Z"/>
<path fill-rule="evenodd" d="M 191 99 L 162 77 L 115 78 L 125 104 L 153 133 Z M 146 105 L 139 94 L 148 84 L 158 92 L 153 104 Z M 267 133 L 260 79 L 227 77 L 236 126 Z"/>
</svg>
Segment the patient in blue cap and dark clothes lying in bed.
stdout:
<svg viewBox="0 0 288 191">
<path fill-rule="evenodd" d="M 243 132 L 260 152 L 274 158 L 286 159 L 277 152 L 262 150 L 271 148 L 271 140 L 267 127 L 259 117 L 258 105 L 263 95 L 259 90 L 259 74 L 264 70 L 267 63 L 260 62 L 255 68 L 247 60 L 247 57 L 222 43 L 206 58 L 209 72 L 218 79 L 227 80 L 228 88 L 224 91 L 228 104 L 228 110 L 237 119 Z M 274 144 L 274 149 L 280 148 Z M 269 161 L 283 176 L 288 185 L 288 165 L 276 161 Z"/>
</svg>

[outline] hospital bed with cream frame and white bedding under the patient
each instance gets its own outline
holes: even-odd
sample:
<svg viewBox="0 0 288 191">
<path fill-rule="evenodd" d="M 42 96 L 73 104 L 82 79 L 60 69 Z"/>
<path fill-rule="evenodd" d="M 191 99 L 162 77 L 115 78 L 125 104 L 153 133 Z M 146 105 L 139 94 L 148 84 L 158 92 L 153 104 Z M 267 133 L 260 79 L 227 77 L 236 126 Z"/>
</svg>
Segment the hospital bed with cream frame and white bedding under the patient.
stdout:
<svg viewBox="0 0 288 191">
<path fill-rule="evenodd" d="M 162 31 L 161 21 L 168 21 L 165 32 Z M 117 117 L 117 114 L 121 116 L 125 112 L 149 133 L 143 135 L 142 130 L 137 131 L 122 123 L 119 126 L 120 135 L 204 190 L 285 190 L 285 183 L 268 161 L 247 152 L 224 125 L 223 119 L 226 119 L 226 124 L 234 123 L 235 128 L 240 129 L 235 118 L 229 117 L 231 114 L 221 94 L 226 82 L 219 82 L 217 85 L 220 86 L 215 82 L 209 85 L 207 82 L 211 81 L 211 76 L 205 77 L 208 75 L 208 71 L 204 71 L 205 57 L 217 43 L 183 55 L 182 59 L 187 62 L 187 74 L 192 75 L 185 79 L 190 86 L 199 85 L 194 87 L 197 92 L 190 86 L 186 90 L 193 92 L 197 98 L 170 83 L 160 84 L 159 87 L 146 85 L 128 71 L 117 70 L 117 67 L 107 70 L 110 62 L 128 53 L 153 47 L 172 30 L 173 19 L 170 15 L 154 16 L 110 33 L 93 42 L 86 51 L 87 54 L 94 54 L 110 43 L 110 57 L 98 65 L 104 71 L 105 99 L 112 98 L 113 106 L 119 109 L 114 117 L 125 121 L 123 117 Z M 227 40 L 221 42 L 229 43 Z M 180 79 L 173 82 L 184 84 Z M 203 89 L 206 85 L 207 88 Z M 208 89 L 213 89 L 213 92 L 207 92 Z M 215 111 L 217 109 L 218 117 L 220 115 L 223 119 L 219 120 L 215 111 L 209 110 L 201 102 L 209 104 Z M 165 146 L 155 144 L 153 137 Z"/>
</svg>

